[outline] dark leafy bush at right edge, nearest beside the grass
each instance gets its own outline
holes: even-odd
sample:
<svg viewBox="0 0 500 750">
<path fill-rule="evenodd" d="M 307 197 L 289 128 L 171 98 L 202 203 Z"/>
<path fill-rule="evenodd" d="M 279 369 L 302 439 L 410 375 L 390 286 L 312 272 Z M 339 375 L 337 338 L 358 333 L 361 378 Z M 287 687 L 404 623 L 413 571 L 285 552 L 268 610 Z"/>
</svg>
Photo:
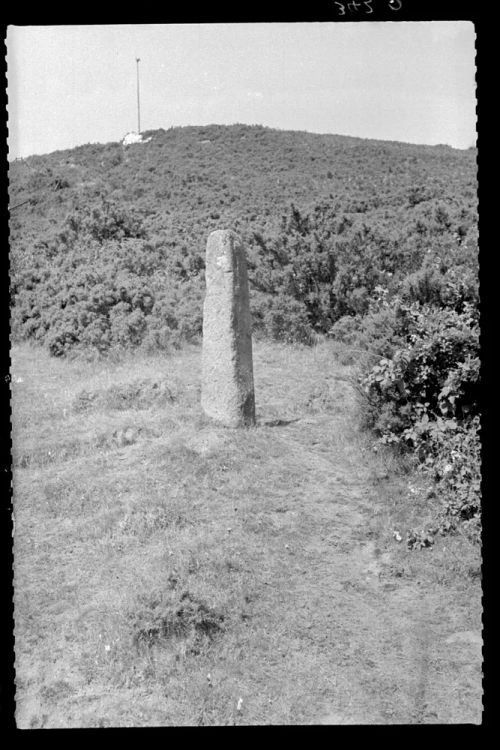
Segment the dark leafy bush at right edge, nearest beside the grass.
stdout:
<svg viewBox="0 0 500 750">
<path fill-rule="evenodd" d="M 381 442 L 413 454 L 437 484 L 438 528 L 452 531 L 466 522 L 479 541 L 479 326 L 476 307 L 469 301 L 461 307 L 457 312 L 380 294 L 357 330 L 381 313 L 392 326 L 376 342 L 385 356 L 365 365 L 360 385 L 365 424 Z"/>
</svg>

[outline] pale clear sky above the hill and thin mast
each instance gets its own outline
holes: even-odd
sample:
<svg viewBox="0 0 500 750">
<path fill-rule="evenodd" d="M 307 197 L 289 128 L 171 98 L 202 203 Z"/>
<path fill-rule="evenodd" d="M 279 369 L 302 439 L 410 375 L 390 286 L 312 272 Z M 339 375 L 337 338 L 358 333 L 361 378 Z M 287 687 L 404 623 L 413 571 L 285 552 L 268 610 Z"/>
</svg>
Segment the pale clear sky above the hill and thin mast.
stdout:
<svg viewBox="0 0 500 750">
<path fill-rule="evenodd" d="M 469 21 L 9 26 L 9 159 L 179 125 L 476 142 Z"/>
</svg>

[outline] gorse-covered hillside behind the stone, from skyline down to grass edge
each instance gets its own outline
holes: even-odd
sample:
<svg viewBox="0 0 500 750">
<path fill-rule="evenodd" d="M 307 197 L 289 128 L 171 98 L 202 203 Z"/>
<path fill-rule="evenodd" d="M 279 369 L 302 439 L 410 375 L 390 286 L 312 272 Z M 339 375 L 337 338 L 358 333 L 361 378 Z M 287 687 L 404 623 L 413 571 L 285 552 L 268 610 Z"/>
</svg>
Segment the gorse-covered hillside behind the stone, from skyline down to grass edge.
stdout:
<svg viewBox="0 0 500 750">
<path fill-rule="evenodd" d="M 11 164 L 16 337 L 61 354 L 199 335 L 204 248 L 220 227 L 242 234 L 255 329 L 278 338 L 366 312 L 375 287 L 397 289 L 430 248 L 446 261 L 458 238 L 460 263 L 477 263 L 472 149 L 245 125 L 144 137 Z M 299 247 L 287 248 L 290 238 Z M 82 285 L 111 297 L 92 305 Z"/>
</svg>

